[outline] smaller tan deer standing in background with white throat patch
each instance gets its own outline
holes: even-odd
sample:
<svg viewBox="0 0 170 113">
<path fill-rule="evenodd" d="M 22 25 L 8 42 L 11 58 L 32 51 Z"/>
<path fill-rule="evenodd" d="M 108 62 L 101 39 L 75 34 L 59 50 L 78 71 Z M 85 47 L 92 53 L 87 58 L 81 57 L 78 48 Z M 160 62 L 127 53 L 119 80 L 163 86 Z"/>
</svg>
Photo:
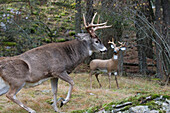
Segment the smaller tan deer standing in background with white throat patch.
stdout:
<svg viewBox="0 0 170 113">
<path fill-rule="evenodd" d="M 108 60 L 94 59 L 90 62 L 90 70 L 91 71 L 90 71 L 89 76 L 90 76 L 90 87 L 91 88 L 92 88 L 92 75 L 93 74 L 95 74 L 95 77 L 96 77 L 100 87 L 102 87 L 102 85 L 100 84 L 100 81 L 98 79 L 99 73 L 94 72 L 97 69 L 107 71 L 107 73 L 109 75 L 109 88 L 111 88 L 111 84 L 110 84 L 111 73 L 112 73 L 112 71 L 115 71 L 114 75 L 115 75 L 116 85 L 117 85 L 117 88 L 119 88 L 118 81 L 117 81 L 118 55 L 119 55 L 120 50 L 122 50 L 122 51 L 126 50 L 125 42 L 124 43 L 118 42 L 120 44 L 120 46 L 116 47 L 116 44 L 114 43 L 114 40 L 112 38 L 112 42 L 109 40 L 108 43 L 111 44 L 111 48 L 114 49 L 113 57 Z"/>
</svg>

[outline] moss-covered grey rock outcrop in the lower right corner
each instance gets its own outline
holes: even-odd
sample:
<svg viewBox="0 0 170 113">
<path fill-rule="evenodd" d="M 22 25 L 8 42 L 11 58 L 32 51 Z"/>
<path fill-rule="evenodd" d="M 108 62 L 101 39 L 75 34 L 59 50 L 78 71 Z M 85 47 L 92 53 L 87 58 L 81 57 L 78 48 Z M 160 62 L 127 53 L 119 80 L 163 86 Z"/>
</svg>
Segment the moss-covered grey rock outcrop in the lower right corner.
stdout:
<svg viewBox="0 0 170 113">
<path fill-rule="evenodd" d="M 170 113 L 169 96 L 151 95 L 130 98 L 128 101 L 120 102 L 121 104 L 112 103 L 100 109 L 97 113 L 159 113 L 161 110 L 165 113 Z M 135 106 L 135 105 L 136 106 Z M 83 112 L 84 113 L 84 112 Z"/>
</svg>

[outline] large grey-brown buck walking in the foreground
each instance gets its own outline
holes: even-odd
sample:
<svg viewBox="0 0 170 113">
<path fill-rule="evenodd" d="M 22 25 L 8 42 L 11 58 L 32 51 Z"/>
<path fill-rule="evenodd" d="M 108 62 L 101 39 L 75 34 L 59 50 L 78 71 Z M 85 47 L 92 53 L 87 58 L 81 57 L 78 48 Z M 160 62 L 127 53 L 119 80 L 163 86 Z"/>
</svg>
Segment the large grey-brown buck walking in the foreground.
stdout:
<svg viewBox="0 0 170 113">
<path fill-rule="evenodd" d="M 92 52 L 105 52 L 107 49 L 95 34 L 97 29 L 108 28 L 105 23 L 93 24 L 97 13 L 95 13 L 90 24 L 84 25 L 88 33 L 78 34 L 79 39 L 63 43 L 51 43 L 29 50 L 21 55 L 5 58 L 0 61 L 0 77 L 9 85 L 9 90 L 4 93 L 8 99 L 18 104 L 30 113 L 35 111 L 16 98 L 16 94 L 26 83 L 36 83 L 40 80 L 51 78 L 52 92 L 54 96 L 54 110 L 57 108 L 57 86 L 58 79 L 69 83 L 69 91 L 66 104 L 70 100 L 74 82 L 68 75 Z"/>
</svg>

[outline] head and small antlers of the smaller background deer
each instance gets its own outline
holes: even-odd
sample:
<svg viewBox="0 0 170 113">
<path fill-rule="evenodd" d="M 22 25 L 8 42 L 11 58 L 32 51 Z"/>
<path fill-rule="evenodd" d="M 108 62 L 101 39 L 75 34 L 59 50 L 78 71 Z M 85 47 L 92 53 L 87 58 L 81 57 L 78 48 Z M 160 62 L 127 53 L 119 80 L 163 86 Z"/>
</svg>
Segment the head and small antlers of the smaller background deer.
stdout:
<svg viewBox="0 0 170 113">
<path fill-rule="evenodd" d="M 124 51 L 126 50 L 126 43 L 125 42 L 119 42 L 120 46 L 116 47 L 116 44 L 114 43 L 114 39 L 112 38 L 112 41 L 109 40 L 108 42 L 109 44 L 111 44 L 111 48 L 114 49 L 114 54 L 118 54 L 120 50 Z"/>
</svg>

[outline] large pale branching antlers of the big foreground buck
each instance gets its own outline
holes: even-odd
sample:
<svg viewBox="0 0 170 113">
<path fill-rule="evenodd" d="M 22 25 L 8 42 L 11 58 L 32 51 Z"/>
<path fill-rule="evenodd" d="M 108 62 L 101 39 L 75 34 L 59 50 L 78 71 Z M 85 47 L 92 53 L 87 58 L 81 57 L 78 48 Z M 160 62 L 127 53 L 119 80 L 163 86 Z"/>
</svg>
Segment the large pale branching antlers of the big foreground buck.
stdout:
<svg viewBox="0 0 170 113">
<path fill-rule="evenodd" d="M 95 31 L 98 30 L 98 29 L 104 29 L 104 28 L 109 28 L 111 27 L 112 25 L 110 26 L 106 26 L 107 22 L 104 22 L 104 23 L 100 23 L 99 24 L 99 17 L 98 17 L 98 21 L 97 21 L 97 24 L 94 24 L 94 19 L 97 15 L 97 12 L 94 14 L 93 18 L 92 18 L 92 21 L 90 24 L 86 24 L 86 19 L 85 19 L 85 15 L 83 14 L 83 21 L 84 21 L 84 26 L 86 28 L 86 30 L 93 36 L 95 37 L 96 34 L 95 34 Z M 91 29 L 90 29 L 91 28 Z"/>
</svg>

